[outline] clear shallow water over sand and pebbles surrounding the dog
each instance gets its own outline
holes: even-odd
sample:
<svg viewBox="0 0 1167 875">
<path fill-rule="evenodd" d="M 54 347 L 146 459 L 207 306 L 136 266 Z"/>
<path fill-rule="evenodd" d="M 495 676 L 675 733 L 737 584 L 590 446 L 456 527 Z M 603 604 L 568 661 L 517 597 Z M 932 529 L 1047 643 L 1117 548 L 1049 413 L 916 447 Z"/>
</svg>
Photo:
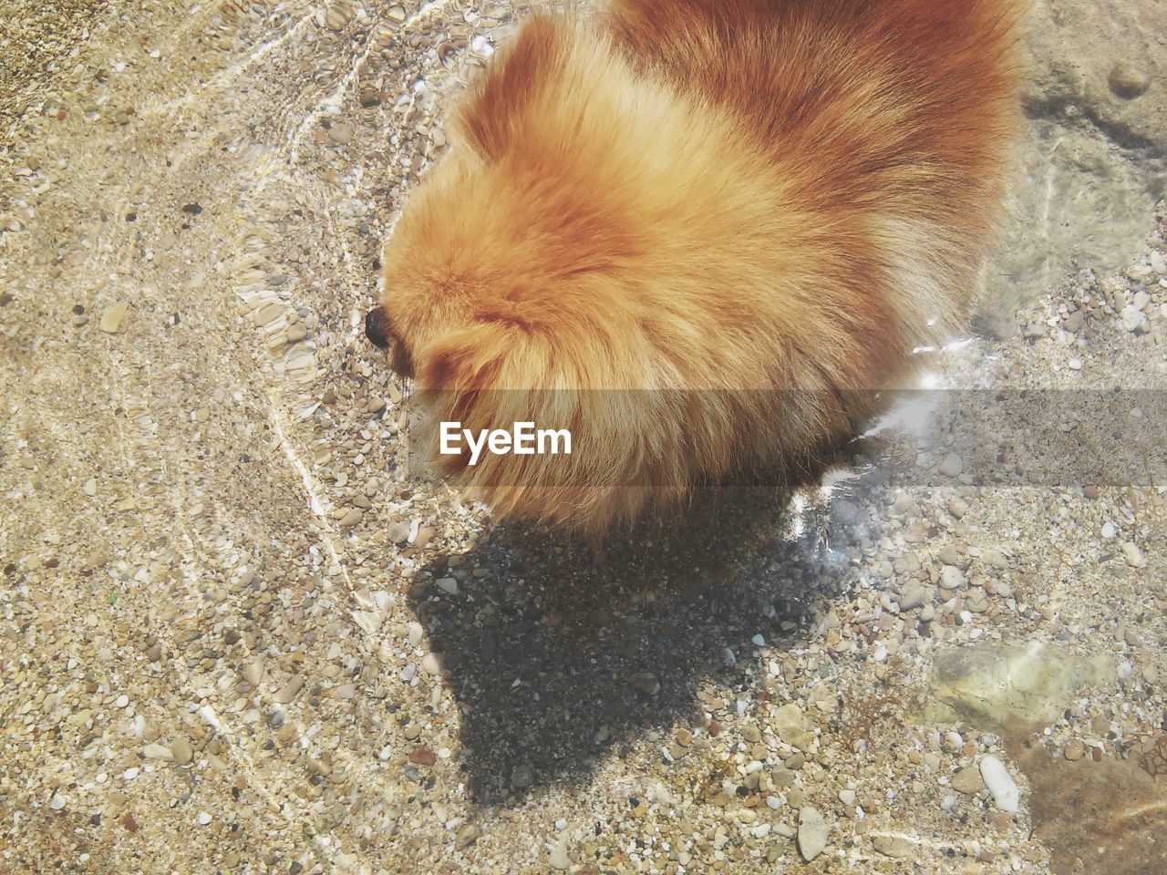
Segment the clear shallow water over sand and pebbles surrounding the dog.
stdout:
<svg viewBox="0 0 1167 875">
<path fill-rule="evenodd" d="M 897 432 L 833 489 L 600 556 L 492 528 L 404 477 L 404 387 L 362 314 L 511 7 L 12 9 L 6 864 L 892 872 L 908 842 L 929 872 L 1163 868 L 1161 488 L 978 487 Z M 1037 5 L 979 320 L 1004 340 L 937 355 L 952 385 L 1161 390 L 1156 14 Z M 1119 60 L 1144 93 L 1113 91 Z M 1113 672 L 986 695 L 1033 648 Z M 950 789 L 988 755 L 1015 816 Z M 829 845 L 804 863 L 810 806 Z"/>
</svg>

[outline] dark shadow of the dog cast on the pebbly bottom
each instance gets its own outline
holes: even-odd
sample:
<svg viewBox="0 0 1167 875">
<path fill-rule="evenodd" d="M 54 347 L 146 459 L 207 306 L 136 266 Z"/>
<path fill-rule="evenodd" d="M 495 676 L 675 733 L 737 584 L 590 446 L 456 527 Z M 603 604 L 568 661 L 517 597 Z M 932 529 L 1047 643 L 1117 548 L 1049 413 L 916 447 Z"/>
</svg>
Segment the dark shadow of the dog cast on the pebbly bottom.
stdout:
<svg viewBox="0 0 1167 875">
<path fill-rule="evenodd" d="M 602 554 L 496 528 L 421 570 L 410 597 L 461 708 L 471 798 L 582 782 L 612 747 L 696 720 L 705 681 L 745 687 L 755 637 L 789 643 L 843 578 L 827 532 L 797 534 L 792 494 L 707 497 Z M 846 524 L 840 504 L 809 516 Z M 662 756 L 669 741 L 657 742 Z"/>
</svg>

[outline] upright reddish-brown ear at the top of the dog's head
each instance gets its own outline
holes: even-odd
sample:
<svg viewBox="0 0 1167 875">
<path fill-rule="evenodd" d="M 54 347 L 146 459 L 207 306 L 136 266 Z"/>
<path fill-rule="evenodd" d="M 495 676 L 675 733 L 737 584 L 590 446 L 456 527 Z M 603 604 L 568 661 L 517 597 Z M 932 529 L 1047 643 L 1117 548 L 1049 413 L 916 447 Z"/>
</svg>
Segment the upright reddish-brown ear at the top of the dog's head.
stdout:
<svg viewBox="0 0 1167 875">
<path fill-rule="evenodd" d="M 532 111 L 544 84 L 554 80 L 569 43 L 564 29 L 546 15 L 530 19 L 501 49 L 462 105 L 457 125 L 474 152 L 485 161 L 508 150 L 523 130 L 520 119 Z"/>
</svg>

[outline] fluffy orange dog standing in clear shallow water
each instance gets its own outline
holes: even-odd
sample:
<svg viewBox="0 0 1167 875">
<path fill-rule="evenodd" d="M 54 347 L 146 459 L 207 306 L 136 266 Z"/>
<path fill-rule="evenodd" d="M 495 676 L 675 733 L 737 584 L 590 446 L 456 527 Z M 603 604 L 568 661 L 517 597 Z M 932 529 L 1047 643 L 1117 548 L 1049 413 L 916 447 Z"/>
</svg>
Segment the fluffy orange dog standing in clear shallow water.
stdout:
<svg viewBox="0 0 1167 875">
<path fill-rule="evenodd" d="M 446 471 L 595 536 L 852 435 L 969 303 L 1013 6 L 615 0 L 527 22 L 410 200 L 369 336 L 435 392 L 432 421 L 575 446 Z"/>
</svg>

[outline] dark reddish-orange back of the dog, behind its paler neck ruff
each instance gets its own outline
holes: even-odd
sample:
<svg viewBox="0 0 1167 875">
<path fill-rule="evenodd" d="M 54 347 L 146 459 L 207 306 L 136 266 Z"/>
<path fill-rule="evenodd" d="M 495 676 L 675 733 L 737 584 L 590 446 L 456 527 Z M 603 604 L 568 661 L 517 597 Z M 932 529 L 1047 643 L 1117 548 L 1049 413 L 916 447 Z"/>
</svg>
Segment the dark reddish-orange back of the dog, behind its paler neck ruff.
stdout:
<svg viewBox="0 0 1167 875">
<path fill-rule="evenodd" d="M 606 15 L 645 74 L 735 117 L 799 205 L 876 244 L 911 335 L 967 303 L 998 219 L 1021 2 L 615 0 Z"/>
</svg>

